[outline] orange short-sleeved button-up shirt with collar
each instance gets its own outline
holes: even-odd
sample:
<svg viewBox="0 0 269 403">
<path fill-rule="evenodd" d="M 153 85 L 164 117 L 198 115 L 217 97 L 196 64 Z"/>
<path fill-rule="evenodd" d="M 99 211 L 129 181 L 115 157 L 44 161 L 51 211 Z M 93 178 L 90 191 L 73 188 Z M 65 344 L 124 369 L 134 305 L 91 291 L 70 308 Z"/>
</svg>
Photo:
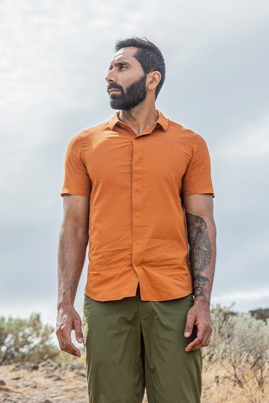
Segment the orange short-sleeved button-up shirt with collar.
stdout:
<svg viewBox="0 0 269 403">
<path fill-rule="evenodd" d="M 136 135 L 118 119 L 67 146 L 64 193 L 89 197 L 84 293 L 97 301 L 164 301 L 193 292 L 183 197 L 212 193 L 206 142 L 164 117 Z"/>
</svg>

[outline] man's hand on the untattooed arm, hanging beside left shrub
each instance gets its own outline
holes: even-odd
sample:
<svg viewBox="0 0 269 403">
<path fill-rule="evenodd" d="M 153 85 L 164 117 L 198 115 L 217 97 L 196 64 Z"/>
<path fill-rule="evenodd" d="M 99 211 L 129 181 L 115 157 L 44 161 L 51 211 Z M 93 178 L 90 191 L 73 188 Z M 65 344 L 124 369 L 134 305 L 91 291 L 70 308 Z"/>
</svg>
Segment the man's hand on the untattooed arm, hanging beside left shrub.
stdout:
<svg viewBox="0 0 269 403">
<path fill-rule="evenodd" d="M 58 310 L 56 335 L 58 337 L 61 350 L 72 356 L 80 357 L 80 351 L 71 342 L 71 331 L 75 331 L 76 340 L 84 343 L 81 328 L 81 318 L 73 305 L 66 305 Z"/>
</svg>

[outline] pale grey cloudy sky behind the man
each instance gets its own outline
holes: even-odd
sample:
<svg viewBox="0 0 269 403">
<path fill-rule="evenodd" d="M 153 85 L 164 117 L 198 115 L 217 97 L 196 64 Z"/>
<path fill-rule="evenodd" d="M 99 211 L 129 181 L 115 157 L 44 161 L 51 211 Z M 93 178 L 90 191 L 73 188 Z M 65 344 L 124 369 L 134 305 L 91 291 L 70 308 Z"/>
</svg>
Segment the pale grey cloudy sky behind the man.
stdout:
<svg viewBox="0 0 269 403">
<path fill-rule="evenodd" d="M 269 2 L 3 0 L 0 27 L 0 315 L 37 311 L 55 326 L 67 142 L 114 114 L 105 75 L 115 41 L 133 35 L 166 61 L 156 107 L 209 148 L 211 302 L 268 308 Z"/>
</svg>

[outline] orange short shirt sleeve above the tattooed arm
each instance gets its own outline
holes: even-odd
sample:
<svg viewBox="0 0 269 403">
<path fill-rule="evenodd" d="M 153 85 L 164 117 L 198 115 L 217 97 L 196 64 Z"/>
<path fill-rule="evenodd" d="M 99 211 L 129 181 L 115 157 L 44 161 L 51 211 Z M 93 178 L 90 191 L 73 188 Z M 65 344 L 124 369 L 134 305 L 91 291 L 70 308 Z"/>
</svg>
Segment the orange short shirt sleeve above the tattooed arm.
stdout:
<svg viewBox="0 0 269 403">
<path fill-rule="evenodd" d="M 181 189 L 183 197 L 201 193 L 211 193 L 212 197 L 215 197 L 209 151 L 206 142 L 199 134 L 193 142 L 192 157 L 182 177 Z"/>
</svg>

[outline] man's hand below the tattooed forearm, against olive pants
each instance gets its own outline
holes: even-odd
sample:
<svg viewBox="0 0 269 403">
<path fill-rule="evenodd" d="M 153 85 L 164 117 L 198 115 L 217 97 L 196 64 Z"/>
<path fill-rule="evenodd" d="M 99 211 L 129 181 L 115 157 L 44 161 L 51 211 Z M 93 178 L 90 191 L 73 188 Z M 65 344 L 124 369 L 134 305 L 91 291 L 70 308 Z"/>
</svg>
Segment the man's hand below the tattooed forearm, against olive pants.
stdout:
<svg viewBox="0 0 269 403">
<path fill-rule="evenodd" d="M 208 346 L 212 333 L 210 310 L 207 303 L 197 302 L 188 310 L 184 336 L 190 337 L 193 326 L 197 326 L 197 337 L 187 345 L 185 351 L 197 350 Z"/>
</svg>

